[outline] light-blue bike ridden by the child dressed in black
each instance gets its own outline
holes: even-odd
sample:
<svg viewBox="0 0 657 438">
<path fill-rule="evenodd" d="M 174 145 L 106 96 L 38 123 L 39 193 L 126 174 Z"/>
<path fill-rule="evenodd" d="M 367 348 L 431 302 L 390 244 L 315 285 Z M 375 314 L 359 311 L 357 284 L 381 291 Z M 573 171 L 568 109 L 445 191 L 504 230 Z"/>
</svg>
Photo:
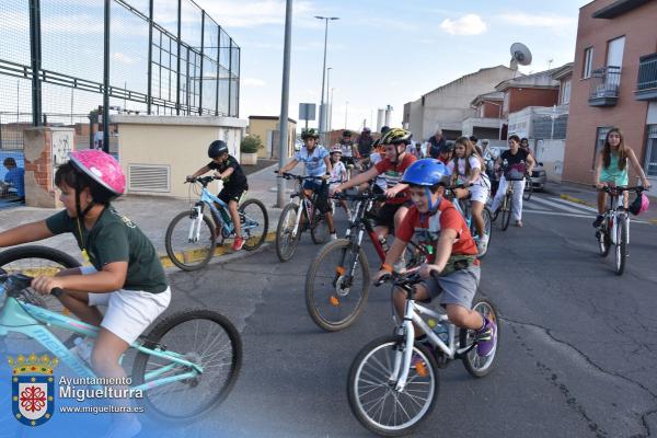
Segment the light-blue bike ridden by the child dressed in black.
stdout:
<svg viewBox="0 0 657 438">
<path fill-rule="evenodd" d="M 226 239 L 234 235 L 234 224 L 228 205 L 207 188 L 215 180 L 215 176 L 203 176 L 188 181 L 191 184 L 201 185 L 200 199 L 191 210 L 173 218 L 166 229 L 166 254 L 171 262 L 183 270 L 196 270 L 207 265 L 215 255 L 217 245 L 221 246 Z M 206 215 L 206 207 L 212 219 Z M 267 209 L 258 199 L 246 199 L 240 203 L 238 215 L 244 250 L 257 250 L 267 238 Z"/>
</svg>

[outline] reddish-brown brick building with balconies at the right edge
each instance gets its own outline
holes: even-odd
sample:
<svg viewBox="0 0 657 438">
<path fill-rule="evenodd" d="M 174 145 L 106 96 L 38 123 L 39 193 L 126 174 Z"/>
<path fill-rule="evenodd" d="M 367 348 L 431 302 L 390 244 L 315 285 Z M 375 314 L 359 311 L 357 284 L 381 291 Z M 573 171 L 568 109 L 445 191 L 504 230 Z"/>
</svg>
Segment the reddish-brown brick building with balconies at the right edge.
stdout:
<svg viewBox="0 0 657 438">
<path fill-rule="evenodd" d="M 596 153 L 616 126 L 657 182 L 656 18 L 657 1 L 649 0 L 579 9 L 564 180 L 592 183 Z"/>
</svg>

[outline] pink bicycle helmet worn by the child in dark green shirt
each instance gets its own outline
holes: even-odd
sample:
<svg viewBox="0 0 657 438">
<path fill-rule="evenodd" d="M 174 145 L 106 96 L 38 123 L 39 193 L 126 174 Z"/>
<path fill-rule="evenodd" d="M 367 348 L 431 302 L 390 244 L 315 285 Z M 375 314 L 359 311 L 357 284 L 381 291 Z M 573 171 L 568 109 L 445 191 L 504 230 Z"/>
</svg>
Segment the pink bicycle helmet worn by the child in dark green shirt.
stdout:
<svg viewBox="0 0 657 438">
<path fill-rule="evenodd" d="M 71 164 L 115 196 L 126 189 L 126 177 L 118 161 L 108 153 L 84 149 L 69 153 Z"/>
</svg>

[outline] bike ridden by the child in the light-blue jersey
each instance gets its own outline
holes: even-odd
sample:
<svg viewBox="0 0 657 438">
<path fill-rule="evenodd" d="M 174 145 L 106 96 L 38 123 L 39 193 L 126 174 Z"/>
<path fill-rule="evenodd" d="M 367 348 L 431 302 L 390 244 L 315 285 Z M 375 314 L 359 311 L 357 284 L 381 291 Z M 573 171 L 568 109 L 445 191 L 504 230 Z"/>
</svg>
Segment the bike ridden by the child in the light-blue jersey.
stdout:
<svg viewBox="0 0 657 438">
<path fill-rule="evenodd" d="M 278 171 L 274 171 L 278 173 Z M 296 189 L 290 195 L 292 199 L 280 212 L 278 227 L 276 228 L 276 255 L 281 262 L 287 262 L 297 252 L 301 233 L 310 229 L 310 237 L 314 243 L 324 243 L 328 240 L 328 223 L 324 214 L 316 208 L 320 194 L 318 192 L 327 189 L 326 181 L 321 176 L 301 176 L 291 173 L 283 173 L 278 177 L 295 180 Z M 310 197 L 303 194 L 302 184 L 306 180 L 321 181 L 321 188 L 313 191 Z M 295 201 L 299 198 L 299 204 Z M 302 207 L 302 208 L 301 208 Z"/>
</svg>

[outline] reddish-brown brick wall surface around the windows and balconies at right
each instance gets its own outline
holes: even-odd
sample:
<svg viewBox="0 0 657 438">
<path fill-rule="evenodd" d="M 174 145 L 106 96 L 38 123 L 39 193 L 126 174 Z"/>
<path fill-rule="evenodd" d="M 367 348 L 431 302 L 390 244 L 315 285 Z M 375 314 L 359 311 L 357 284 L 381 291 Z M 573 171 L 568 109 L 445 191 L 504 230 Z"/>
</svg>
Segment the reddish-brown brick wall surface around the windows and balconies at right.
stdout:
<svg viewBox="0 0 657 438">
<path fill-rule="evenodd" d="M 614 0 L 597 0 L 579 10 L 573 88 L 570 92 L 570 119 L 566 137 L 564 180 L 591 183 L 596 132 L 598 127 L 618 126 L 639 162 L 644 162 L 646 146 L 646 117 L 648 103 L 634 97 L 638 61 L 643 55 L 657 49 L 657 1 L 648 2 L 612 20 L 593 19 L 591 14 Z M 590 79 L 583 79 L 584 50 L 593 47 L 592 68 L 607 62 L 607 44 L 625 36 L 619 99 L 614 106 L 593 107 L 588 104 Z M 634 173 L 631 169 L 631 181 Z"/>
</svg>

